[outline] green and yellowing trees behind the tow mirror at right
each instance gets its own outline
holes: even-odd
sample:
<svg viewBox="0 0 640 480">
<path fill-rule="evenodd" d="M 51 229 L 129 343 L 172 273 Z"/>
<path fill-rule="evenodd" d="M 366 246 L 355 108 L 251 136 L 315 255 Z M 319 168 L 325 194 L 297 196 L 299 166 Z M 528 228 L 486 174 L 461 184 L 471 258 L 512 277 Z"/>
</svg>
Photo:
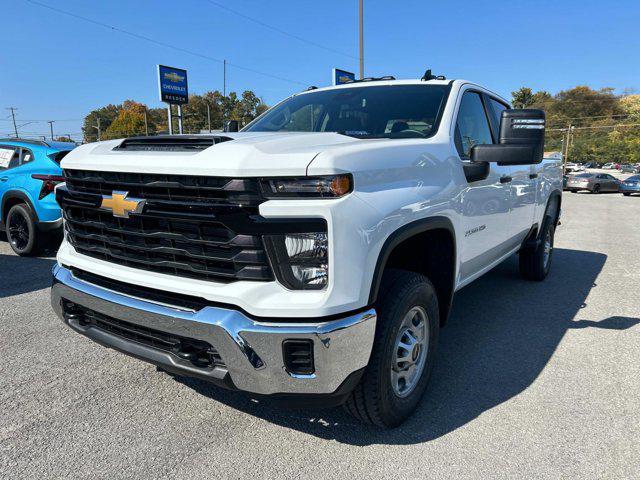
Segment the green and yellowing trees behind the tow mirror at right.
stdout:
<svg viewBox="0 0 640 480">
<path fill-rule="evenodd" d="M 523 87 L 512 97 L 514 108 L 546 112 L 546 151 L 567 151 L 568 139 L 572 162 L 640 162 L 640 95 L 579 86 L 555 95 Z"/>
</svg>

